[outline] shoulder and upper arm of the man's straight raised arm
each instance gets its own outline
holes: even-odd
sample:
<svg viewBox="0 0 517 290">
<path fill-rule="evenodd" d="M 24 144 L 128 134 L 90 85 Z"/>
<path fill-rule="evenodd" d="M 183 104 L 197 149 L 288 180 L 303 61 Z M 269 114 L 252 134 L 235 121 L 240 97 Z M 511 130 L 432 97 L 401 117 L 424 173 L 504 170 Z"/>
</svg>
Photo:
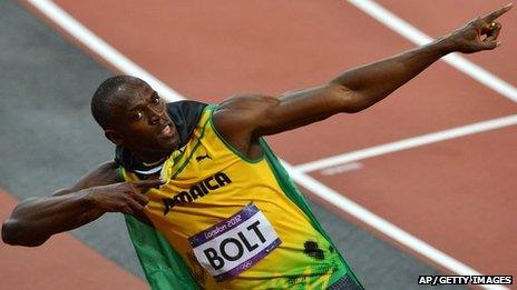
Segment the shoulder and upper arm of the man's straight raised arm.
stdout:
<svg viewBox="0 0 517 290">
<path fill-rule="evenodd" d="M 242 96 L 221 103 L 214 120 L 226 136 L 254 139 L 318 122 L 339 112 L 353 112 L 354 97 L 353 91 L 333 83 L 279 97 Z"/>
</svg>

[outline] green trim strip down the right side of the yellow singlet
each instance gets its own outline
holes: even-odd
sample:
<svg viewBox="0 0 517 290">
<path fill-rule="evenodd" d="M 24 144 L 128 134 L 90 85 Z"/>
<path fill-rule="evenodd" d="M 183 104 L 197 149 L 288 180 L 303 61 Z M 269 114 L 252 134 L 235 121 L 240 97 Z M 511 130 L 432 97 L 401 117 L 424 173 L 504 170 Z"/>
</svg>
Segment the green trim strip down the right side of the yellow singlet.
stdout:
<svg viewBox="0 0 517 290">
<path fill-rule="evenodd" d="M 270 166 L 271 171 L 273 171 L 276 182 L 279 182 L 280 187 L 282 188 L 282 191 L 306 214 L 306 217 L 311 221 L 312 227 L 314 227 L 314 229 L 316 229 L 332 244 L 334 249 L 338 249 L 338 247 L 335 247 L 335 244 L 332 242 L 332 239 L 329 237 L 329 234 L 321 227 L 320 222 L 312 213 L 312 210 L 305 197 L 302 194 L 302 192 L 300 192 L 299 188 L 294 184 L 285 168 L 281 164 L 279 158 L 275 156 L 273 150 L 271 150 L 270 146 L 264 141 L 263 138 L 260 138 L 260 144 L 262 147 L 262 151 L 265 156 L 267 164 Z M 364 288 L 359 281 L 359 279 L 355 277 L 344 258 L 341 254 L 339 254 L 339 257 L 344 264 L 345 271 L 343 271 L 342 274 L 334 274 L 332 277 L 332 280 L 330 281 L 330 284 L 339 280 L 343 274 L 347 274 L 360 287 Z"/>
</svg>

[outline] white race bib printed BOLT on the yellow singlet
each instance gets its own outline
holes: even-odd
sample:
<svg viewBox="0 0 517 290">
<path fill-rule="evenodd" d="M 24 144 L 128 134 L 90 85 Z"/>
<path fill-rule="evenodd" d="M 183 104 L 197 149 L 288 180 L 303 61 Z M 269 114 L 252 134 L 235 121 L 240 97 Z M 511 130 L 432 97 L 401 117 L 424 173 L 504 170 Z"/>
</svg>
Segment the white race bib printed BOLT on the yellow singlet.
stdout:
<svg viewBox="0 0 517 290">
<path fill-rule="evenodd" d="M 197 261 L 216 281 L 237 276 L 282 243 L 271 222 L 253 203 L 188 241 Z"/>
</svg>

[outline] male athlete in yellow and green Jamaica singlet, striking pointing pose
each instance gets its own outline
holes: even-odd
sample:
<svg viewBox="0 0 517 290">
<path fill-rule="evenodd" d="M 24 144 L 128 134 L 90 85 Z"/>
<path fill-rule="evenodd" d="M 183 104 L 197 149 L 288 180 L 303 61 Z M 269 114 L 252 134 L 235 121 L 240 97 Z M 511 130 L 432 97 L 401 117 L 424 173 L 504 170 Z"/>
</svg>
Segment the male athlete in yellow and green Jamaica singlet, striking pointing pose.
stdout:
<svg viewBox="0 0 517 290">
<path fill-rule="evenodd" d="M 145 81 L 103 82 L 91 110 L 114 161 L 16 207 L 2 239 L 36 247 L 123 212 L 153 289 L 362 289 L 262 137 L 359 112 L 450 52 L 500 44 L 511 4 L 452 33 L 280 97 L 165 103 Z"/>
</svg>

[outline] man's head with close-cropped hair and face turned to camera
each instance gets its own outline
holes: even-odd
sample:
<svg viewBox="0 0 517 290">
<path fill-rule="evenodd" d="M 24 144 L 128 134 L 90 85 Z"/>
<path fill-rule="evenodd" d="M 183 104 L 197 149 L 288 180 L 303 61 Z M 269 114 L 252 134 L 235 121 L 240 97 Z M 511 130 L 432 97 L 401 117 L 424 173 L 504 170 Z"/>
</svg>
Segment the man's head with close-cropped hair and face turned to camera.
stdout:
<svg viewBox="0 0 517 290">
<path fill-rule="evenodd" d="M 116 76 L 91 99 L 91 113 L 106 138 L 135 152 L 169 152 L 178 146 L 165 102 L 145 81 Z"/>
</svg>

